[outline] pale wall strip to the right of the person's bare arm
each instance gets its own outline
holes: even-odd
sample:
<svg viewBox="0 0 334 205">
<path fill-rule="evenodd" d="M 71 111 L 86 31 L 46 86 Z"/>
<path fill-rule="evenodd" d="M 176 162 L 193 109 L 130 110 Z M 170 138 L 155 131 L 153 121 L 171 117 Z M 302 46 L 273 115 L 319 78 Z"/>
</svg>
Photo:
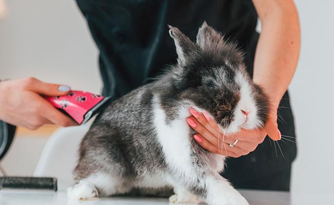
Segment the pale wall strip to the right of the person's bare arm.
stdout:
<svg viewBox="0 0 334 205">
<path fill-rule="evenodd" d="M 290 86 L 299 147 L 292 201 L 333 204 L 329 197 L 334 193 L 334 1 L 298 0 L 296 4 L 302 50 Z"/>
</svg>

